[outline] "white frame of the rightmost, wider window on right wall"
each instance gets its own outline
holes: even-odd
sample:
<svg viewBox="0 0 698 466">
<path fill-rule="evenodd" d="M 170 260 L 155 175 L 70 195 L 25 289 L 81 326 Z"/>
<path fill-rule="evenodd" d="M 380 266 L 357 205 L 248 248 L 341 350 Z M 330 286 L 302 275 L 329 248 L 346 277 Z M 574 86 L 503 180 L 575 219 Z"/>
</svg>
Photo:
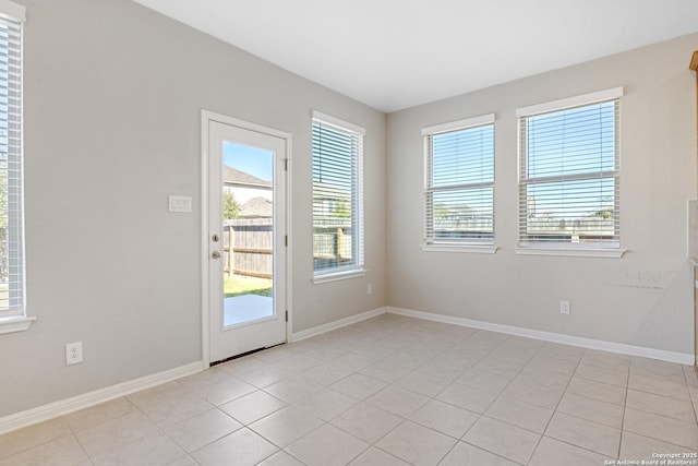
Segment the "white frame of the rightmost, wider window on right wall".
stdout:
<svg viewBox="0 0 698 466">
<path fill-rule="evenodd" d="M 575 97 L 568 97 L 559 100 L 553 100 L 543 104 L 537 104 L 528 107 L 521 107 L 516 110 L 518 120 L 518 247 L 515 249 L 517 254 L 521 255 L 566 255 L 566 256 L 590 256 L 590 258 L 622 258 L 626 250 L 621 247 L 621 224 L 614 226 L 614 236 L 617 238 L 612 241 L 589 241 L 589 242 L 571 242 L 571 241 L 530 241 L 524 238 L 525 218 L 527 215 L 527 202 L 524 201 L 524 196 L 527 196 L 527 187 L 534 184 L 530 182 L 531 178 L 526 176 L 527 167 L 529 164 L 528 151 L 525 146 L 526 138 L 524 135 L 524 124 L 530 117 L 535 117 L 544 113 L 554 113 L 557 111 L 564 111 L 568 109 L 581 108 L 586 106 L 597 105 L 613 101 L 614 103 L 614 170 L 612 170 L 611 177 L 615 182 L 615 198 L 614 208 L 618 212 L 621 208 L 621 116 L 619 106 L 621 98 L 624 95 L 624 88 L 613 87 L 604 91 L 599 91 L 590 94 L 583 94 Z M 575 181 L 583 179 L 605 179 L 609 176 L 590 177 L 589 174 L 581 174 L 579 176 L 563 174 L 561 176 L 545 177 L 545 182 L 557 181 Z"/>
</svg>

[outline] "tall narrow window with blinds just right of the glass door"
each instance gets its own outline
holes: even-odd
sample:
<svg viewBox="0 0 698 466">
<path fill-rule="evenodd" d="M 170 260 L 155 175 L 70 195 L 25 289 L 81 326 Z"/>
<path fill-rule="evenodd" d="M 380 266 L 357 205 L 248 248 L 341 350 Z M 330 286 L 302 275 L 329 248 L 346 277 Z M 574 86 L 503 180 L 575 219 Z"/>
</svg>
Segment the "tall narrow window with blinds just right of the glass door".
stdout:
<svg viewBox="0 0 698 466">
<path fill-rule="evenodd" d="M 363 273 L 363 135 L 313 112 L 313 268 L 316 279 Z"/>
</svg>

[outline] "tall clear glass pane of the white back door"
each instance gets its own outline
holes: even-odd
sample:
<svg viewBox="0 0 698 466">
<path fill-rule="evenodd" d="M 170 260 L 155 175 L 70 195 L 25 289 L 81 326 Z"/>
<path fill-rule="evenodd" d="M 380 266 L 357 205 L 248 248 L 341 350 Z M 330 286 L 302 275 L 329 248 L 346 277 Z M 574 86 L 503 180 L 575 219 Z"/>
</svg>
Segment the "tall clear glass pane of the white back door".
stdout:
<svg viewBox="0 0 698 466">
<path fill-rule="evenodd" d="M 274 153 L 222 144 L 224 326 L 274 316 Z"/>
</svg>

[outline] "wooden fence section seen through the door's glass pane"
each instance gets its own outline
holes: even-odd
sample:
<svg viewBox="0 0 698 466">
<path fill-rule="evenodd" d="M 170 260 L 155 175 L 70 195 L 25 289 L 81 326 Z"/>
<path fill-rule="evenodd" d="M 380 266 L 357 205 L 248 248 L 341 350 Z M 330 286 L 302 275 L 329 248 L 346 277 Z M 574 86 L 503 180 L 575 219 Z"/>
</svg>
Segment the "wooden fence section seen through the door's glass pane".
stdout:
<svg viewBox="0 0 698 466">
<path fill-rule="evenodd" d="M 222 228 L 224 272 L 272 278 L 274 273 L 274 224 L 272 218 L 226 220 Z"/>
</svg>

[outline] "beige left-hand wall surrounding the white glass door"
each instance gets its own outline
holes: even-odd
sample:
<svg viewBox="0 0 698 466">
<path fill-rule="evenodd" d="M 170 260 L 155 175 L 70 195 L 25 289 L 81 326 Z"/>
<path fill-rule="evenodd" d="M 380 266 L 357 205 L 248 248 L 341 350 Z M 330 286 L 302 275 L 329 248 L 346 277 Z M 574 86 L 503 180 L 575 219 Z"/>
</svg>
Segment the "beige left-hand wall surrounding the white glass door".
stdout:
<svg viewBox="0 0 698 466">
<path fill-rule="evenodd" d="M 384 113 L 128 0 L 20 1 L 38 320 L 0 335 L 0 417 L 201 359 L 201 109 L 293 136 L 293 331 L 386 304 Z M 370 273 L 324 285 L 310 282 L 313 109 L 366 128 Z M 168 194 L 194 212 L 169 214 Z M 84 363 L 67 368 L 76 340 Z"/>
</svg>

